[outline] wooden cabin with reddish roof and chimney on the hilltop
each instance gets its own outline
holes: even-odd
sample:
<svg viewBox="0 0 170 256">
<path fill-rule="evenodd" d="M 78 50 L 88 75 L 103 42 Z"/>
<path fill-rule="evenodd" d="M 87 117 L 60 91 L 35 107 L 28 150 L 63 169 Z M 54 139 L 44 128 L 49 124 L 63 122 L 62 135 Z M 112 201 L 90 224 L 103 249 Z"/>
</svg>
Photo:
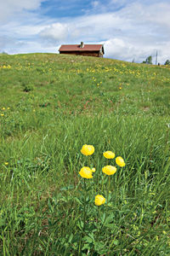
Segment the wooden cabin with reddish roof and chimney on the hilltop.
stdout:
<svg viewBox="0 0 170 256">
<path fill-rule="evenodd" d="M 59 48 L 59 54 L 86 55 L 103 57 L 105 54 L 103 44 L 63 44 Z"/>
</svg>

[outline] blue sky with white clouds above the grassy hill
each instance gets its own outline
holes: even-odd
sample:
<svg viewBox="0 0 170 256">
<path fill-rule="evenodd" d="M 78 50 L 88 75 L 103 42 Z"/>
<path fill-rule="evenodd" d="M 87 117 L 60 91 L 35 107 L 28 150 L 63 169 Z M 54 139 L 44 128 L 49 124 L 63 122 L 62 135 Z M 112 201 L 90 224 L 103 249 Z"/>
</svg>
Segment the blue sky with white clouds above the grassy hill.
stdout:
<svg viewBox="0 0 170 256">
<path fill-rule="evenodd" d="M 0 0 L 0 52 L 104 44 L 105 57 L 170 59 L 170 0 Z"/>
</svg>

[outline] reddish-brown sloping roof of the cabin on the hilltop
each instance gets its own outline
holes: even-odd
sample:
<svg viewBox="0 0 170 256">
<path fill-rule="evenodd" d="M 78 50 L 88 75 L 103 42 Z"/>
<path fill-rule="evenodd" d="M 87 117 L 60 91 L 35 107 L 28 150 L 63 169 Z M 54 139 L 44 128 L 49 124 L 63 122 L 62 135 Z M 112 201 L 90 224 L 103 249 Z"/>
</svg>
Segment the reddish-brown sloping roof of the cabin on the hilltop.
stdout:
<svg viewBox="0 0 170 256">
<path fill-rule="evenodd" d="M 83 48 L 80 46 L 80 44 L 63 44 L 59 51 L 99 51 L 101 48 L 103 49 L 103 44 L 84 44 Z"/>
</svg>

